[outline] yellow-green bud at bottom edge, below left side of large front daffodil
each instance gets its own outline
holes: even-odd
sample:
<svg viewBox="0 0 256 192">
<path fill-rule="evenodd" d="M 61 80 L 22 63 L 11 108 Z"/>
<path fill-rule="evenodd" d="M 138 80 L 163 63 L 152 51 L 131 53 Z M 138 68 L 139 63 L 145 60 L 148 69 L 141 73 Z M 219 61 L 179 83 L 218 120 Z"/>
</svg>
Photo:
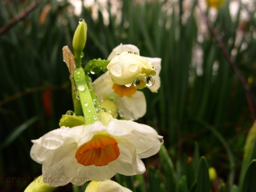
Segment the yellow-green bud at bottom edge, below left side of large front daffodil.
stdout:
<svg viewBox="0 0 256 192">
<path fill-rule="evenodd" d="M 56 187 L 45 183 L 42 176 L 39 176 L 27 186 L 24 192 L 51 192 L 55 189 Z"/>
</svg>

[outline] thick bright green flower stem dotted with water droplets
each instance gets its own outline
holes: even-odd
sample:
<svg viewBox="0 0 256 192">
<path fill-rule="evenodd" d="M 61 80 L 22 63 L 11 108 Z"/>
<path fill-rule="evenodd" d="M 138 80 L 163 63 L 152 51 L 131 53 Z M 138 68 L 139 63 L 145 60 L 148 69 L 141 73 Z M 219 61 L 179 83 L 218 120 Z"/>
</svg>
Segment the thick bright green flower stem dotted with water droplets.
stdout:
<svg viewBox="0 0 256 192">
<path fill-rule="evenodd" d="M 86 75 L 84 74 L 82 68 L 79 68 L 75 70 L 73 76 L 82 106 L 84 121 L 87 125 L 90 125 L 98 120 L 98 116 L 95 111 L 94 101 L 87 85 Z"/>
</svg>

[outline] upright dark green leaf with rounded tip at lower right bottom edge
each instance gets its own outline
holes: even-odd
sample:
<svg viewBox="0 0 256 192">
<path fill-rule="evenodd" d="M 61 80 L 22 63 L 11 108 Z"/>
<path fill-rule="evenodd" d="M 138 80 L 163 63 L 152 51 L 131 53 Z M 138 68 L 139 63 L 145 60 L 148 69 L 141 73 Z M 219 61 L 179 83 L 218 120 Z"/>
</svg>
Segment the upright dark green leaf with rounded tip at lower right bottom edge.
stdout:
<svg viewBox="0 0 256 192">
<path fill-rule="evenodd" d="M 197 177 L 197 192 L 210 191 L 210 179 L 208 172 L 208 164 L 205 157 L 201 157 L 199 162 L 198 177 Z"/>
</svg>

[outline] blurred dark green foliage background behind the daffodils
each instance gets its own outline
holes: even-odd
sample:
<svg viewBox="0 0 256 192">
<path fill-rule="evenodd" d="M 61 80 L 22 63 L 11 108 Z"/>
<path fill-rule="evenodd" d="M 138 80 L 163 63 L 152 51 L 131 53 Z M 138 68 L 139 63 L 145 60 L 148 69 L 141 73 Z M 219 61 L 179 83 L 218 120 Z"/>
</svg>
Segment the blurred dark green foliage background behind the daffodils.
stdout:
<svg viewBox="0 0 256 192">
<path fill-rule="evenodd" d="M 1 0 L 0 190 L 23 191 L 41 175 L 30 158 L 31 140 L 56 129 L 61 115 L 73 110 L 62 47 L 72 48 L 79 18 L 88 25 L 83 65 L 108 58 L 120 43 L 162 58 L 161 88 L 143 90 L 147 113 L 138 122 L 164 136 L 177 174 L 189 172 L 196 146 L 218 182 L 231 173 L 237 184 L 255 119 L 255 6 L 249 0 Z M 158 155 L 144 162 L 146 191 L 154 191 L 147 181 L 161 185 L 163 165 Z"/>
</svg>

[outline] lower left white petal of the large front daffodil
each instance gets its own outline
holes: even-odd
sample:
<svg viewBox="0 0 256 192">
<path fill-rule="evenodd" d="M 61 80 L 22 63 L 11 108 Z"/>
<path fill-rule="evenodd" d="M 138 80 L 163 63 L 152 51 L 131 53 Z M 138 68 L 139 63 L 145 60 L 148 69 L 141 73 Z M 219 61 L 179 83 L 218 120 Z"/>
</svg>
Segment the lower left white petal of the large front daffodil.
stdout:
<svg viewBox="0 0 256 192">
<path fill-rule="evenodd" d="M 75 159 L 77 145 L 71 143 L 59 147 L 42 164 L 42 176 L 45 183 L 63 186 L 72 181 L 77 174 L 78 163 Z"/>
</svg>

